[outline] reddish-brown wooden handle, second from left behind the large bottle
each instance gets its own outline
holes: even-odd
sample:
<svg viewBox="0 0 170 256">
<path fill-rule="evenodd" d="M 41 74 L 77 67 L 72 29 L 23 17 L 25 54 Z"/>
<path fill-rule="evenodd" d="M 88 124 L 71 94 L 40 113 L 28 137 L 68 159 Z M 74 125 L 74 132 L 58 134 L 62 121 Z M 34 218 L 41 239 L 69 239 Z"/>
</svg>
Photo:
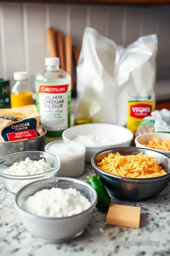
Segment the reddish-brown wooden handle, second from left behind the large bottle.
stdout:
<svg viewBox="0 0 170 256">
<path fill-rule="evenodd" d="M 56 33 L 56 39 L 57 39 L 60 68 L 65 70 L 63 33 L 61 31 Z"/>
</svg>

